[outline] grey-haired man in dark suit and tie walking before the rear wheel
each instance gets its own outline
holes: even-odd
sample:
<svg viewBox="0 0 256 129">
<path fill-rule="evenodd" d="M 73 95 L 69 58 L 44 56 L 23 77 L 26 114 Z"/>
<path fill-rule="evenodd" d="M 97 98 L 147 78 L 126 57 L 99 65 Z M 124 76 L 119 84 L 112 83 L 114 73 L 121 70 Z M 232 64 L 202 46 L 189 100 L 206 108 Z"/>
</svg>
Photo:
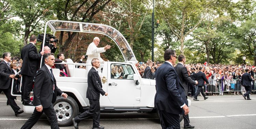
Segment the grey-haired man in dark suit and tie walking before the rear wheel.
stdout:
<svg viewBox="0 0 256 129">
<path fill-rule="evenodd" d="M 68 95 L 63 93 L 56 85 L 56 80 L 52 72 L 52 67 L 55 62 L 54 54 L 45 54 L 44 61 L 44 66 L 38 70 L 35 76 L 33 89 L 34 112 L 21 129 L 31 129 L 43 113 L 49 118 L 51 129 L 59 129 L 53 103 L 56 101 L 57 95 L 61 95 L 64 98 L 67 98 Z"/>
</svg>

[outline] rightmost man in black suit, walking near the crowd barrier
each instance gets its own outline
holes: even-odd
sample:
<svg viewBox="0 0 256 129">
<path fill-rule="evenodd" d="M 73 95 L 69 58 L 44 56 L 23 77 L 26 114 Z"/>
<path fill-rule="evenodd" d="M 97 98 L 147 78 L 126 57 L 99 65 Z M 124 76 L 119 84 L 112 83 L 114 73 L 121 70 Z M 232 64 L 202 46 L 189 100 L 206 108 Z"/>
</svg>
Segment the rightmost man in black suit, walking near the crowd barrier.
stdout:
<svg viewBox="0 0 256 129">
<path fill-rule="evenodd" d="M 243 94 L 243 97 L 245 100 L 246 100 L 246 97 L 247 97 L 247 100 L 251 100 L 250 93 L 252 92 L 252 81 L 253 80 L 252 80 L 251 74 L 249 73 L 249 70 L 245 69 L 245 73 L 242 75 L 242 79 L 241 79 L 242 86 L 246 90 L 246 93 Z"/>
</svg>

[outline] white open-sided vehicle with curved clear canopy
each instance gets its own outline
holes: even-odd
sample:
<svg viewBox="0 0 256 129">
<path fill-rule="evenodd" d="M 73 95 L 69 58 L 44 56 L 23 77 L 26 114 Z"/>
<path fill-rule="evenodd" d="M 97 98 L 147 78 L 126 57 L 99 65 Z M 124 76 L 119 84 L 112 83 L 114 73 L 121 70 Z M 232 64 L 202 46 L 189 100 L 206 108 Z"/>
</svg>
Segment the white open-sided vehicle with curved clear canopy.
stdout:
<svg viewBox="0 0 256 129">
<path fill-rule="evenodd" d="M 108 25 L 60 20 L 49 20 L 45 25 L 44 35 L 47 28 L 54 34 L 57 31 L 102 34 L 111 38 L 119 48 L 125 61 L 105 61 L 98 69 L 102 71 L 99 73 L 102 89 L 108 92 L 108 96 L 100 97 L 101 112 L 157 112 L 154 106 L 156 82 L 153 79 L 141 78 L 134 64 L 137 63 L 136 57 L 120 32 Z M 45 37 L 43 45 L 44 42 Z M 88 71 L 79 69 L 77 66 L 91 66 L 91 64 L 74 63 L 71 59 L 66 59 L 62 64 L 67 64 L 69 77 L 59 77 L 59 69 L 53 69 L 53 74 L 58 88 L 67 93 L 68 98 L 58 96 L 53 105 L 58 125 L 69 126 L 72 124 L 73 117 L 89 108 L 89 100 L 86 98 Z M 115 66 L 123 68 L 125 73 L 123 79 L 111 78 L 111 68 Z M 188 101 L 190 106 L 191 101 L 189 99 Z M 25 113 L 32 114 L 34 107 L 23 105 L 23 110 Z M 159 116 L 158 113 L 157 115 Z"/>
</svg>

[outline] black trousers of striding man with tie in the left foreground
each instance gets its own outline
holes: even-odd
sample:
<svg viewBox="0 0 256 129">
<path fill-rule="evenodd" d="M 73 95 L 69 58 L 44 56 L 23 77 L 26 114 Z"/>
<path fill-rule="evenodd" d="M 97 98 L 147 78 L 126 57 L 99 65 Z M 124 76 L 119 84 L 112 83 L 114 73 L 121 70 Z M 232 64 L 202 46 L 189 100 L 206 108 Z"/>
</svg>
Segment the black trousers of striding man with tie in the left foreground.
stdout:
<svg viewBox="0 0 256 129">
<path fill-rule="evenodd" d="M 34 124 L 37 123 L 38 119 L 43 113 L 45 113 L 46 116 L 49 118 L 51 129 L 59 129 L 58 119 L 52 104 L 48 108 L 43 108 L 42 112 L 38 112 L 37 109 L 34 109 L 32 116 L 26 121 L 26 123 L 20 129 L 31 129 L 34 126 Z"/>
</svg>

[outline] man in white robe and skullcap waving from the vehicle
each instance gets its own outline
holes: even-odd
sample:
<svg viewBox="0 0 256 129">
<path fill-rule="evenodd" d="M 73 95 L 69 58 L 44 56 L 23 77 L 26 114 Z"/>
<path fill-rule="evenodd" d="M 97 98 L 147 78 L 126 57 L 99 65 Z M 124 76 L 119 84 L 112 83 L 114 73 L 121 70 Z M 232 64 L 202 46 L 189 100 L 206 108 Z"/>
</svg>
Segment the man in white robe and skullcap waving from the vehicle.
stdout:
<svg viewBox="0 0 256 129">
<path fill-rule="evenodd" d="M 107 49 L 110 49 L 110 45 L 106 45 L 105 47 L 102 48 L 98 48 L 97 46 L 100 43 L 100 39 L 98 37 L 95 37 L 93 39 L 93 42 L 89 44 L 86 55 L 87 60 L 86 63 L 91 63 L 91 60 L 93 60 L 93 58 L 98 58 L 100 60 L 100 63 L 104 63 L 104 60 L 100 57 L 100 53 L 105 52 Z"/>
</svg>

